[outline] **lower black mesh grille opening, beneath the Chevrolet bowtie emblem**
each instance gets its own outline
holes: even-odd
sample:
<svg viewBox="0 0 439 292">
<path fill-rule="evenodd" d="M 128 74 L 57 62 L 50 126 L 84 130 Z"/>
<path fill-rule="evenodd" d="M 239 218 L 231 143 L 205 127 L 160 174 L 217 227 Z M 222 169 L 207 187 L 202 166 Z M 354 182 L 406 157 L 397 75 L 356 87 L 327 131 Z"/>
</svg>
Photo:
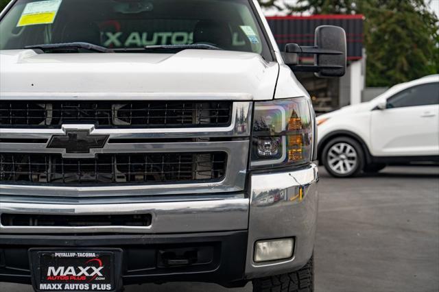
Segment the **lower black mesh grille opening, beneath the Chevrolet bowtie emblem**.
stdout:
<svg viewBox="0 0 439 292">
<path fill-rule="evenodd" d="M 98 154 L 96 158 L 0 153 L 0 182 L 154 184 L 210 181 L 224 176 L 226 160 L 224 152 Z"/>
</svg>

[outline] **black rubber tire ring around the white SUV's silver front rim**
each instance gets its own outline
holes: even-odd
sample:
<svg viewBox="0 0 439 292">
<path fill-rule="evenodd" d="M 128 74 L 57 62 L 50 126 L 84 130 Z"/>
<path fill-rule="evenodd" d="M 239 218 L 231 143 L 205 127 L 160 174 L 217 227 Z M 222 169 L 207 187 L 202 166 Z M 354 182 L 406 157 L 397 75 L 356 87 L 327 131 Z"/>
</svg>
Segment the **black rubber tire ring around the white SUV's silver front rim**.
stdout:
<svg viewBox="0 0 439 292">
<path fill-rule="evenodd" d="M 355 165 L 352 166 L 352 169 L 346 171 L 345 173 L 341 173 L 340 171 L 335 171 L 333 167 L 331 167 L 329 163 L 329 151 L 336 145 L 340 145 L 340 143 L 344 143 L 346 145 L 351 146 L 356 152 L 356 160 Z M 364 169 L 364 151 L 361 145 L 355 141 L 353 138 L 349 137 L 338 137 L 333 138 L 327 145 L 324 146 L 322 151 L 322 164 L 324 168 L 327 169 L 328 173 L 335 178 L 349 178 L 355 175 L 358 175 L 362 169 Z"/>
</svg>

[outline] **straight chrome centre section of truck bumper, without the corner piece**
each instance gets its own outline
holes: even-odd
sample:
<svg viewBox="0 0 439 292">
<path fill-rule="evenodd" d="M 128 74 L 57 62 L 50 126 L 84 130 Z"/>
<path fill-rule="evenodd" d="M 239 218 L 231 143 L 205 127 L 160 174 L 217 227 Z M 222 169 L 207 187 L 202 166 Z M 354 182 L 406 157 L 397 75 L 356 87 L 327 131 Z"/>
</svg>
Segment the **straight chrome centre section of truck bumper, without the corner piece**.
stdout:
<svg viewBox="0 0 439 292">
<path fill-rule="evenodd" d="M 45 215 L 124 215 L 151 214 L 152 224 L 137 226 L 2 226 L 0 234 L 57 234 L 57 233 L 184 233 L 246 230 L 248 226 L 249 199 L 244 195 L 224 199 L 145 202 L 127 204 L 36 204 L 25 202 L 2 202 L 1 213 Z"/>
</svg>

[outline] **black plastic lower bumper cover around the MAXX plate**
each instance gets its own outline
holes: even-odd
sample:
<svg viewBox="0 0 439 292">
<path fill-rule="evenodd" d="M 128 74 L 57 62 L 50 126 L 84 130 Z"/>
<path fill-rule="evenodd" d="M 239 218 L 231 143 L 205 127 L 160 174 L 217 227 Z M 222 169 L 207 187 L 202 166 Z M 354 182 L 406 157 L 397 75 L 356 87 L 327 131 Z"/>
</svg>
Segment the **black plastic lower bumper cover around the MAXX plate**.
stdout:
<svg viewBox="0 0 439 292">
<path fill-rule="evenodd" d="M 247 239 L 247 231 L 91 236 L 1 234 L 0 282 L 31 284 L 27 254 L 31 247 L 116 247 L 123 251 L 123 284 L 194 281 L 241 286 L 245 283 Z M 186 265 L 163 265 L 164 253 L 179 250 L 191 254 L 198 250 L 200 259 Z"/>
</svg>

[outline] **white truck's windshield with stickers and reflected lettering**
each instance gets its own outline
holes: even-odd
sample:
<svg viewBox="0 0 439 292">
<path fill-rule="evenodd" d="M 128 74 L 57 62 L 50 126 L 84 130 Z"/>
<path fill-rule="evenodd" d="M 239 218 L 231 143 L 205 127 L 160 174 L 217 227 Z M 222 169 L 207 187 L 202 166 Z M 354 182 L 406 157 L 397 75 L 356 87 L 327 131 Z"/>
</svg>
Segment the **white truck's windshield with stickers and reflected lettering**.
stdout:
<svg viewBox="0 0 439 292">
<path fill-rule="evenodd" d="M 17 0 L 0 22 L 0 49 L 69 42 L 123 52 L 207 44 L 271 59 L 249 0 Z"/>
</svg>

